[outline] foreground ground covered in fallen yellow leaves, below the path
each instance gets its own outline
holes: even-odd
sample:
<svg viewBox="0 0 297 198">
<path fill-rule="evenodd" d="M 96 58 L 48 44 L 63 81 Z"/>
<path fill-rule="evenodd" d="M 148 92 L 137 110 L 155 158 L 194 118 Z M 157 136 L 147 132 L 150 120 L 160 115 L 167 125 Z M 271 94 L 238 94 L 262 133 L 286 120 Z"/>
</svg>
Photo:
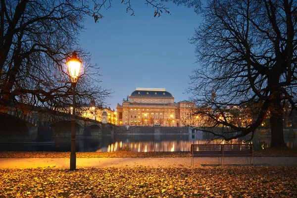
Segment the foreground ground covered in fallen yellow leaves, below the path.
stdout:
<svg viewBox="0 0 297 198">
<path fill-rule="evenodd" d="M 296 198 L 297 167 L 2 169 L 0 198 Z"/>
</svg>

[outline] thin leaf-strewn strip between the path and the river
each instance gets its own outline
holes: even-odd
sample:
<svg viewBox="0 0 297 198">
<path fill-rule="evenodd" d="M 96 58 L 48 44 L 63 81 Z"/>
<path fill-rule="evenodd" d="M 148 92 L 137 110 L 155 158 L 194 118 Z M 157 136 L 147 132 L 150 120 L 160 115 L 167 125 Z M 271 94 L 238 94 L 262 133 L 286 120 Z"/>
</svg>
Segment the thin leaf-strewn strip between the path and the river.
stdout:
<svg viewBox="0 0 297 198">
<path fill-rule="evenodd" d="M 0 158 L 26 158 L 26 157 L 55 157 L 68 158 L 70 152 L 20 152 L 20 151 L 0 151 Z M 189 157 L 189 151 L 184 152 L 132 152 L 132 151 L 116 151 L 116 152 L 77 152 L 77 157 Z M 293 149 L 274 149 L 267 148 L 265 150 L 255 150 L 255 157 L 297 157 L 297 150 Z"/>
</svg>

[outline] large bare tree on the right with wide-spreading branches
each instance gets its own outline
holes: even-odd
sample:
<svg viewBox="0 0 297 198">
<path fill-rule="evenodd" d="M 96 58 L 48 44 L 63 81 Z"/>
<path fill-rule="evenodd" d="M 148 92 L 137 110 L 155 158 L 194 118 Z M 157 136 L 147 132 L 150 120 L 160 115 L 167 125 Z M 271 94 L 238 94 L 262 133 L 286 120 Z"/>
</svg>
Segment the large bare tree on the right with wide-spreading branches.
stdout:
<svg viewBox="0 0 297 198">
<path fill-rule="evenodd" d="M 253 136 L 269 116 L 270 146 L 286 147 L 283 105 L 296 109 L 297 1 L 210 0 L 202 13 L 191 40 L 201 68 L 188 91 L 208 118 L 203 130 L 225 140 Z M 238 124 L 234 109 L 250 123 Z"/>
</svg>

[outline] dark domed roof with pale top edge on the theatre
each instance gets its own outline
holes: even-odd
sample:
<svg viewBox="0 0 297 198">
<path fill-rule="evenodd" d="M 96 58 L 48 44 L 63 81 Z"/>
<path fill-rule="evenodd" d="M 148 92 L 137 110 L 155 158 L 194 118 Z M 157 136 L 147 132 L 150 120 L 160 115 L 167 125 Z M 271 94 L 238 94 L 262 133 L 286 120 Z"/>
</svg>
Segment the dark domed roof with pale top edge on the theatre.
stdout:
<svg viewBox="0 0 297 198">
<path fill-rule="evenodd" d="M 165 89 L 136 88 L 130 97 L 148 97 L 148 98 L 173 98 L 172 94 Z"/>
</svg>

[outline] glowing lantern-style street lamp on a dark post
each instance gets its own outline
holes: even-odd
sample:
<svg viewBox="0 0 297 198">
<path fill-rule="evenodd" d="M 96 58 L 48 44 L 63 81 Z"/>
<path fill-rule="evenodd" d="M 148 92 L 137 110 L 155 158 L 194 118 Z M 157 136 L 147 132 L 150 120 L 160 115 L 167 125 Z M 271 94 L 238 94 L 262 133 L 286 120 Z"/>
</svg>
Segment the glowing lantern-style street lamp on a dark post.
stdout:
<svg viewBox="0 0 297 198">
<path fill-rule="evenodd" d="M 73 88 L 73 108 L 72 108 L 72 120 L 71 120 L 71 153 L 70 153 L 70 170 L 76 169 L 76 154 L 75 154 L 75 87 L 79 76 L 79 70 L 82 61 L 77 57 L 77 53 L 73 52 L 72 57 L 66 63 L 68 65 L 68 71 L 71 78 L 71 84 Z"/>
</svg>

